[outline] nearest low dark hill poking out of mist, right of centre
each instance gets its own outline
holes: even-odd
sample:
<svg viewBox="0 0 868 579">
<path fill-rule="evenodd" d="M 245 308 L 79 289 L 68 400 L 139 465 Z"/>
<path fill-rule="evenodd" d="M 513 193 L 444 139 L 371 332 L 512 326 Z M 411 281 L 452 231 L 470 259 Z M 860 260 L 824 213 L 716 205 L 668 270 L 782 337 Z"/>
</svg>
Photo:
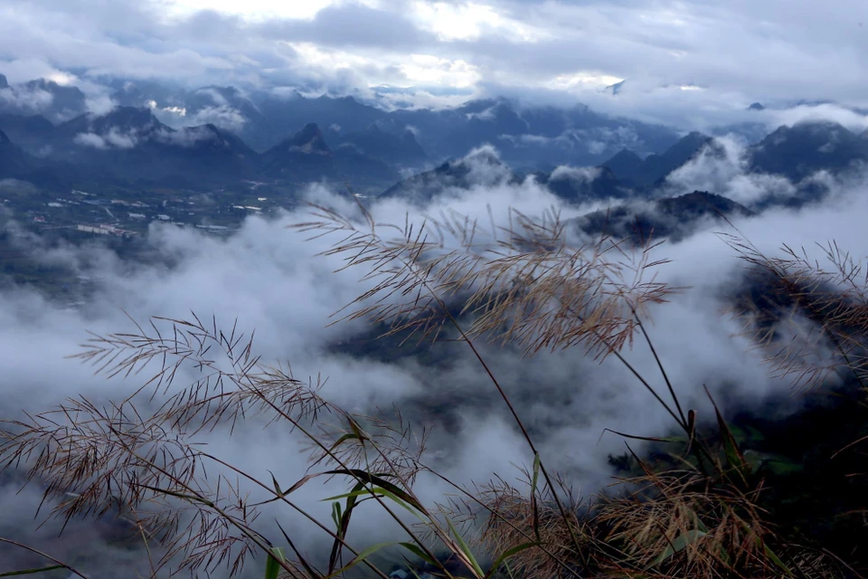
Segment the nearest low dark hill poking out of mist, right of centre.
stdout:
<svg viewBox="0 0 868 579">
<path fill-rule="evenodd" d="M 705 220 L 750 216 L 744 205 L 722 195 L 694 191 L 652 202 L 633 201 L 582 215 L 571 224 L 590 235 L 610 235 L 642 244 L 653 236 L 679 241 L 695 233 Z"/>
</svg>

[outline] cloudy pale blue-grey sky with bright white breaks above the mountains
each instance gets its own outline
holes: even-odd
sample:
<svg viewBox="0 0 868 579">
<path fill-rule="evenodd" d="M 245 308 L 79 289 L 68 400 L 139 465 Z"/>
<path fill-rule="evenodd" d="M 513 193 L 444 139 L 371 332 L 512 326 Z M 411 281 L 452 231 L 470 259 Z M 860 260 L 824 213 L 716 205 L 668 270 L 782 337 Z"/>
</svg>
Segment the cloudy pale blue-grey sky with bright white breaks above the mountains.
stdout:
<svg viewBox="0 0 868 579">
<path fill-rule="evenodd" d="M 6 0 L 0 71 L 386 85 L 709 116 L 754 101 L 862 103 L 866 24 L 855 0 Z M 600 93 L 625 80 L 618 98 Z"/>
</svg>

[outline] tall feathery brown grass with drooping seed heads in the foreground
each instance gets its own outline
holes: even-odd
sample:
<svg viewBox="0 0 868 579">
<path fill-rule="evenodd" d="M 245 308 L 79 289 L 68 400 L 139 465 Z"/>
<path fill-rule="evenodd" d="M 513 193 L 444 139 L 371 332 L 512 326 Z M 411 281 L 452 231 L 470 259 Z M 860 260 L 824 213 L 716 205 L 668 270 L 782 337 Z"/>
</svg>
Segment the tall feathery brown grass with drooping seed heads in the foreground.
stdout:
<svg viewBox="0 0 868 579">
<path fill-rule="evenodd" d="M 133 520 L 152 555 L 152 577 L 221 568 L 237 575 L 253 556 L 267 562 L 269 577 L 331 579 L 358 572 L 387 579 L 390 569 L 377 564 L 377 555 L 395 549 L 419 574 L 424 569 L 450 579 L 852 576 L 836 555 L 778 532 L 761 507 L 761 472 L 745 458 L 722 414 L 712 417 L 715 429 L 701 432 L 696 414 L 675 394 L 644 323 L 649 304 L 673 299 L 679 290 L 656 280 L 656 269 L 665 266 L 653 257 L 656 244 L 634 251 L 604 238 L 574 247 L 554 213 L 536 220 L 512 212 L 507 226 L 491 223 L 484 231 L 457 214 L 400 226 L 375 223 L 361 205 L 360 211 L 361 220 L 350 220 L 315 205 L 311 220 L 297 224 L 301 232 L 335 239 L 324 255 L 343 258 L 343 269 L 361 271 L 370 286 L 334 323 L 365 319 L 386 325 L 386 336 L 463 342 L 533 456 L 523 482 L 500 477 L 467 488 L 449 480 L 425 464 L 426 432 L 400 413 L 348 413 L 320 394 L 321 383 L 265 364 L 252 337 L 235 326 L 194 315 L 152 318 L 131 333 L 92 337 L 74 357 L 97 374 L 135 376 L 150 367 L 149 377 L 119 402 L 77 398 L 7 422 L 3 463 L 42 481 L 46 498 L 59 497 L 57 517 L 120 512 Z M 837 347 L 835 368 L 847 368 L 861 381 L 859 332 L 868 327 L 868 308 L 864 284 L 845 255 L 830 248 L 840 267 L 826 273 L 795 252 L 771 259 L 741 238 L 727 241 L 752 268 L 769 273 L 790 300 L 791 317 L 807 315 L 822 328 Z M 820 286 L 829 290 L 817 293 Z M 756 312 L 765 315 L 769 308 Z M 753 331 L 772 325 L 756 312 L 739 310 Z M 760 346 L 781 350 L 778 336 L 758 337 Z M 625 351 L 637 340 L 650 348 L 658 375 L 630 365 Z M 570 480 L 548 467 L 551 457 L 542 455 L 486 362 L 482 342 L 525 356 L 580 348 L 585 356 L 624 365 L 681 431 L 653 441 L 675 445 L 677 467 L 634 453 L 634 474 L 617 480 L 615 491 L 576 496 Z M 771 357 L 803 383 L 823 379 L 800 351 L 785 348 Z M 804 367 L 796 370 L 797 364 Z M 190 368 L 200 377 L 176 384 Z M 296 432 L 310 449 L 309 469 L 293 480 L 260 479 L 195 443 L 201 432 L 241 421 Z M 219 474 L 208 474 L 213 471 Z M 447 484 L 452 496 L 426 504 L 415 490 L 421 473 Z M 331 521 L 296 500 L 299 489 L 335 478 L 344 481 L 345 491 L 327 498 Z M 244 489 L 267 498 L 254 501 Z M 354 546 L 349 531 L 367 508 L 391 518 L 400 536 Z M 268 526 L 258 519 L 266 512 L 277 520 L 277 533 L 263 531 Z M 280 527 L 280 513 L 294 513 L 308 527 Z M 302 535 L 330 544 L 329 554 L 307 555 L 298 546 Z"/>
</svg>

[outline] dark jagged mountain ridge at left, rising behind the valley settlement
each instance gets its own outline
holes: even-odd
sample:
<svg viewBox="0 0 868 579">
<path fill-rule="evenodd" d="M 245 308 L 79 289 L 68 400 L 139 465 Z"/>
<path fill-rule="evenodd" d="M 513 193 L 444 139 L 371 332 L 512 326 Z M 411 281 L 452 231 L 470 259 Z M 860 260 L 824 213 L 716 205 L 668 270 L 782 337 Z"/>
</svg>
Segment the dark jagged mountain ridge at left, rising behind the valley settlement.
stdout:
<svg viewBox="0 0 868 579">
<path fill-rule="evenodd" d="M 292 182 L 328 178 L 382 186 L 399 178 L 390 166 L 356 150 L 332 151 L 314 123 L 263 155 L 212 123 L 174 129 L 143 107 L 83 114 L 56 127 L 42 117 L 4 116 L 0 128 L 4 127 L 28 136 L 28 148 L 44 153 L 35 177 L 51 173 L 61 182 L 99 176 L 112 183 L 122 179 L 194 187 L 272 176 Z"/>
</svg>

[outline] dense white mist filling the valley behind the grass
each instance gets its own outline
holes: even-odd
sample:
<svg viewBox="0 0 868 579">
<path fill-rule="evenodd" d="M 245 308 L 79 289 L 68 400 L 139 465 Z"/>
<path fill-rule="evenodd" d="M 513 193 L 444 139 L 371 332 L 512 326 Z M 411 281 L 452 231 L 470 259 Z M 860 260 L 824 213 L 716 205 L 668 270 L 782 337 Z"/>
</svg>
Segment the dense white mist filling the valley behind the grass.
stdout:
<svg viewBox="0 0 868 579">
<path fill-rule="evenodd" d="M 670 184 L 675 189 L 704 188 L 739 201 L 750 201 L 769 187 L 792 187 L 768 176 L 745 175 L 738 161 L 739 146 L 727 141 L 726 148 L 723 158 L 700 157 L 679 169 L 670 177 Z M 477 185 L 467 192 L 451 191 L 422 211 L 390 200 L 374 205 L 373 216 L 378 223 L 403 224 L 409 213 L 411 220 L 420 223 L 423 215 L 438 217 L 454 210 L 488 228 L 489 206 L 495 223 L 504 225 L 509 207 L 533 215 L 554 206 L 563 218 L 596 208 L 559 207 L 557 199 L 533 181 L 490 185 L 491 180 L 483 179 L 482 183 L 488 185 Z M 859 252 L 868 242 L 863 228 L 868 198 L 859 195 L 863 181 L 844 184 L 833 180 L 830 184 L 835 195 L 822 207 L 800 212 L 772 210 L 734 224 L 764 252 L 777 252 L 782 242 L 798 247 L 833 238 Z M 312 188 L 309 197 L 346 214 L 357 213 L 353 203 L 323 186 Z M 437 368 L 425 367 L 412 358 L 388 361 L 386 356 L 384 362 L 327 351 L 328 346 L 342 340 L 363 337 L 363 322 L 326 325 L 330 315 L 362 293 L 369 282 L 360 282 L 361 270 L 335 273 L 341 266 L 339 258 L 315 257 L 327 248 L 328 239 L 306 241 L 305 233 L 288 228 L 307 219 L 306 211 L 283 214 L 271 221 L 250 218 L 228 239 L 154 225 L 148 240 L 161 253 L 172 256 L 172 267 L 130 268 L 108 252 L 46 250 L 34 243 L 33 253 L 39 259 L 70 264 L 100 280 L 99 290 L 90 302 L 74 310 L 33 290 L 7 290 L 0 296 L 0 347 L 5 354 L 0 362 L 4 377 L 0 389 L 5 400 L 2 418 L 14 418 L 19 410 L 46 409 L 78 394 L 107 400 L 132 392 L 147 372 L 127 381 L 105 380 L 93 377 L 90 367 L 64 356 L 79 351 L 79 344 L 87 338 L 86 330 L 105 333 L 134 329 L 125 312 L 145 321 L 155 315 L 189 318 L 192 310 L 203 318 L 216 315 L 223 327 L 231 327 L 237 318 L 241 330 L 255 328 L 254 347 L 264 361 L 289 364 L 297 377 L 327 376 L 322 394 L 347 410 L 370 413 L 392 404 L 410 408 L 407 418 L 434 426 L 430 460 L 453 479 L 486 482 L 494 473 L 507 479 L 517 474 L 514 465 L 527 464 L 529 453 L 504 403 L 468 349 L 450 346 L 449 354 L 455 357 Z M 738 324 L 722 315 L 725 303 L 721 296 L 736 285 L 742 273 L 731 248 L 713 231 L 703 230 L 684 242 L 663 244 L 655 250 L 655 257 L 672 260 L 658 268 L 659 280 L 688 287 L 672 303 L 652 308 L 648 327 L 684 403 L 707 419 L 709 404 L 703 384 L 713 393 L 725 394 L 727 400 L 744 405 L 757 403 L 770 393 L 786 392 L 788 384 L 769 378 L 760 358 L 747 353 L 746 340 L 732 337 L 740 329 Z M 617 436 L 601 437 L 603 429 L 659 435 L 673 426 L 663 409 L 614 358 L 599 365 L 583 358 L 580 349 L 524 359 L 513 350 L 495 346 L 481 349 L 523 419 L 537 432 L 543 460 L 568 472 L 584 491 L 596 491 L 607 482 L 607 456 L 624 450 L 624 441 Z M 637 344 L 626 356 L 652 384 L 663 387 L 646 347 Z M 421 402 L 431 400 L 448 403 L 448 425 L 443 417 L 419 410 Z M 263 430 L 261 426 L 250 421 L 231 438 L 226 432 L 217 432 L 204 440 L 222 459 L 261 479 L 269 480 L 269 470 L 282 481 L 301 478 L 306 455 L 297 436 L 280 427 Z M 329 489 L 312 484 L 301 489 L 296 499 L 325 518 L 329 506 L 317 500 L 342 490 L 336 482 Z M 420 494 L 429 500 L 441 498 L 446 490 L 433 480 L 420 479 Z M 33 494 L 20 500 L 16 504 L 36 503 Z M 14 528 L 19 520 L 32 516 L 24 507 L 5 511 L 0 516 L 0 530 Z M 289 527 L 297 523 L 294 517 L 286 520 Z M 383 517 L 373 514 L 356 524 L 354 531 L 365 541 L 394 532 Z M 309 536 L 307 546 L 316 548 L 324 538 Z"/>
</svg>

